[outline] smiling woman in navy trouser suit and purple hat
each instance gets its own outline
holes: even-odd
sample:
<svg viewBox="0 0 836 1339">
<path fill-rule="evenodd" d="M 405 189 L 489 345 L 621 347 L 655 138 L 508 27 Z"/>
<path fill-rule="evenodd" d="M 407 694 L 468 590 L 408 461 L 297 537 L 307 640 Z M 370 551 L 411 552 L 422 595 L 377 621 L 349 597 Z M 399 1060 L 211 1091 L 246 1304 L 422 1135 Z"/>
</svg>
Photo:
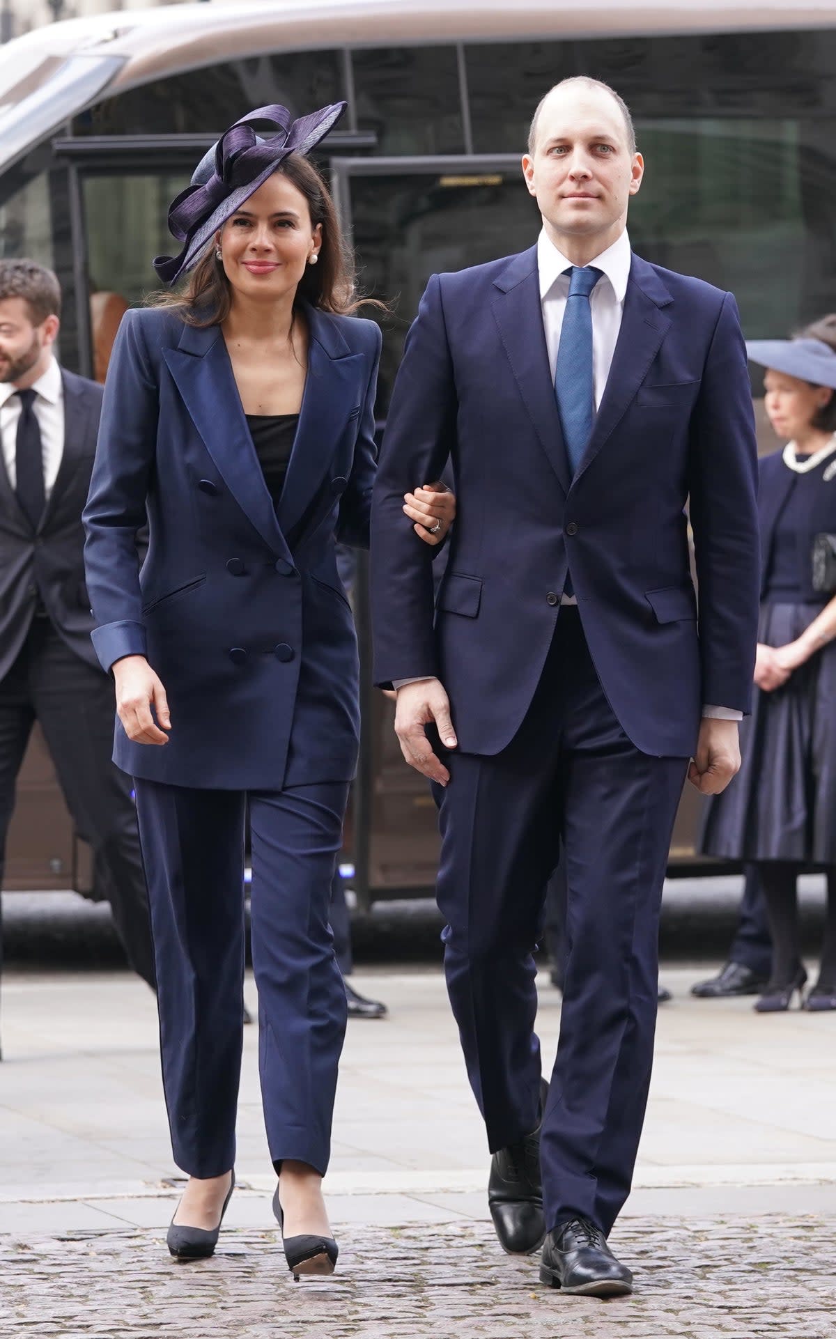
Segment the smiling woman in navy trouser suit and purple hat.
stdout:
<svg viewBox="0 0 836 1339">
<path fill-rule="evenodd" d="M 126 315 L 84 514 L 94 641 L 135 778 L 177 1164 L 169 1231 L 210 1255 L 234 1185 L 244 822 L 273 1200 L 295 1276 L 336 1261 L 322 1197 L 346 992 L 328 898 L 358 747 L 335 538 L 367 545 L 379 328 L 352 311 L 334 206 L 304 154 L 344 103 L 228 130 L 169 213 L 180 297 Z M 260 139 L 255 121 L 279 133 Z M 409 494 L 438 544 L 451 494 Z M 135 532 L 149 521 L 138 572 Z M 406 524 L 406 521 L 405 521 Z M 415 541 L 418 542 L 418 540 Z"/>
</svg>

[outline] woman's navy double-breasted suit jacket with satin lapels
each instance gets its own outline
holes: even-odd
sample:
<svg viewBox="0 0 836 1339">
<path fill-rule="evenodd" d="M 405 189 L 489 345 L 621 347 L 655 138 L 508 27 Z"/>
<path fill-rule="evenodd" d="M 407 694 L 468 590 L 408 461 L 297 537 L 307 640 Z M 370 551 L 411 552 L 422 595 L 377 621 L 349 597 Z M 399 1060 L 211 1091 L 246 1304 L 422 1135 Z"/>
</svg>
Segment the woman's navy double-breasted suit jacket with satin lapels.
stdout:
<svg viewBox="0 0 836 1339">
<path fill-rule="evenodd" d="M 354 775 L 358 655 L 335 538 L 368 544 L 380 332 L 305 315 L 308 375 L 277 507 L 220 327 L 165 309 L 119 327 L 84 561 L 102 665 L 146 655 L 169 698 L 163 746 L 131 743 L 117 722 L 114 761 L 133 775 L 256 790 Z"/>
</svg>

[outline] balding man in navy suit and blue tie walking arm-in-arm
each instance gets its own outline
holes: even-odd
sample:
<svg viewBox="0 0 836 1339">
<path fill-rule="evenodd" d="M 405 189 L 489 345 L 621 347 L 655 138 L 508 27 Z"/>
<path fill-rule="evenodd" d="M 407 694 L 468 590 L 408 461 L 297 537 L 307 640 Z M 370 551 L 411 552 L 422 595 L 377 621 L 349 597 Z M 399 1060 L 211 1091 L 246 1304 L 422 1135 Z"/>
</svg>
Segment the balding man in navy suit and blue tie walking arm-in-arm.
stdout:
<svg viewBox="0 0 836 1339">
<path fill-rule="evenodd" d="M 643 159 L 622 99 L 559 84 L 522 170 L 536 246 L 434 276 L 406 344 L 372 507 L 375 679 L 398 686 L 405 758 L 441 798 L 445 969 L 500 1241 L 545 1237 L 543 1281 L 608 1296 L 631 1289 L 607 1235 L 647 1101 L 677 803 L 686 771 L 726 786 L 749 710 L 754 423 L 734 299 L 630 250 Z M 398 526 L 409 481 L 447 457 L 434 628 L 430 564 Z M 561 842 L 547 1099 L 532 947 Z"/>
</svg>

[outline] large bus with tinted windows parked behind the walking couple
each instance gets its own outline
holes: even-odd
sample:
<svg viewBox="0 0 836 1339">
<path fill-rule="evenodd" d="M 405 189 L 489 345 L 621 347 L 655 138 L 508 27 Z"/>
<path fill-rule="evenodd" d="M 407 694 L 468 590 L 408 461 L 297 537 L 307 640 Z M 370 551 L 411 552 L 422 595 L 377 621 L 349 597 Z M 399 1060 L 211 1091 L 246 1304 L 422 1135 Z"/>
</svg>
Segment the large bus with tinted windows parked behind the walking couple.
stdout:
<svg viewBox="0 0 836 1339">
<path fill-rule="evenodd" d="M 0 246 L 58 270 L 62 358 L 102 376 L 204 147 L 253 106 L 346 98 L 319 162 L 363 288 L 395 307 L 383 419 L 429 274 L 533 241 L 520 154 L 532 108 L 571 74 L 632 110 L 640 254 L 733 289 L 749 337 L 836 309 L 836 0 L 242 0 L 54 24 L 0 48 Z M 358 620 L 364 641 L 362 582 Z M 364 691 L 351 842 L 367 901 L 427 886 L 437 848 L 431 802 Z M 683 810 L 673 862 L 693 830 Z"/>
</svg>

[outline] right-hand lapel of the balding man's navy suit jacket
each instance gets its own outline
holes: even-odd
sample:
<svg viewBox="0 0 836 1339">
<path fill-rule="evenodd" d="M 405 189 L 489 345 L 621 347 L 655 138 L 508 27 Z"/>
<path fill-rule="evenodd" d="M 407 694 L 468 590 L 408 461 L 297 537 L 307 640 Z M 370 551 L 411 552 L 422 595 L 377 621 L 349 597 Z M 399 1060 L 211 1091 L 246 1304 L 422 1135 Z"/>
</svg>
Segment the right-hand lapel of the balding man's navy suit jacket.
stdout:
<svg viewBox="0 0 836 1339">
<path fill-rule="evenodd" d="M 610 376 L 595 418 L 592 437 L 575 475 L 576 479 L 612 435 L 647 376 L 650 364 L 659 352 L 662 340 L 671 325 L 670 317 L 660 308 L 671 301 L 669 291 L 652 265 L 634 256 Z"/>
</svg>

